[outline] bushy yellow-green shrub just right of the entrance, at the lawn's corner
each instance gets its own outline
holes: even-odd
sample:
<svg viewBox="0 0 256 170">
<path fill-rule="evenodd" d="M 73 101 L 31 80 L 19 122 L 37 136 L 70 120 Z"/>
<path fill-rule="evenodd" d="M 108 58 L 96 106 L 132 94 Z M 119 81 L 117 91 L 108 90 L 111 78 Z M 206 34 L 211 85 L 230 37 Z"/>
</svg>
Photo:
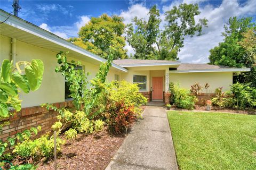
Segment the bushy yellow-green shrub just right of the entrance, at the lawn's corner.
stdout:
<svg viewBox="0 0 256 170">
<path fill-rule="evenodd" d="M 196 97 L 191 95 L 189 90 L 180 88 L 178 84 L 173 85 L 173 102 L 179 108 L 193 109 L 196 103 Z"/>
</svg>

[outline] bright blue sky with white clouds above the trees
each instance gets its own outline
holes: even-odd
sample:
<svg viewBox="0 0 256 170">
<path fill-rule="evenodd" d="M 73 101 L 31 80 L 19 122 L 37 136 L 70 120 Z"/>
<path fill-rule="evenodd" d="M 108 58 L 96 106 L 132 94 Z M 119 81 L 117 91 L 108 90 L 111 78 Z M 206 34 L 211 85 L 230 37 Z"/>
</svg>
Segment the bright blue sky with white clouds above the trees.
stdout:
<svg viewBox="0 0 256 170">
<path fill-rule="evenodd" d="M 13 1 L 0 1 L 0 7 L 12 12 Z M 231 16 L 252 16 L 256 19 L 256 1 L 22 1 L 19 17 L 39 27 L 51 31 L 62 38 L 74 37 L 82 25 L 90 21 L 92 16 L 102 13 L 119 15 L 124 22 L 130 23 L 134 16 L 148 18 L 150 6 L 156 4 L 161 12 L 161 27 L 164 23 L 164 12 L 180 3 L 198 3 L 201 14 L 196 18 L 209 20 L 209 27 L 203 29 L 199 37 L 186 37 L 185 46 L 179 53 L 183 63 L 207 63 L 209 50 L 222 41 L 223 24 Z M 126 45 L 129 53 L 133 49 Z"/>
</svg>

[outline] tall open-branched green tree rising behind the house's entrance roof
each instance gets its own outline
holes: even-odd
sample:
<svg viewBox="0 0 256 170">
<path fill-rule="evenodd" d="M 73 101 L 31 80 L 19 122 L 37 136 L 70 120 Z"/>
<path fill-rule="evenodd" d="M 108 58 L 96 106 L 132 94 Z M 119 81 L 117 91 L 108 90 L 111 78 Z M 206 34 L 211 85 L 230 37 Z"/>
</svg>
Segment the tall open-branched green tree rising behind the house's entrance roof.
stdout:
<svg viewBox="0 0 256 170">
<path fill-rule="evenodd" d="M 145 21 L 135 17 L 126 27 L 126 40 L 135 51 L 134 58 L 178 60 L 178 52 L 183 47 L 186 36 L 201 35 L 202 27 L 207 27 L 207 20 L 199 19 L 197 4 L 180 4 L 165 12 L 167 24 L 164 29 L 159 28 L 161 23 L 159 10 L 156 5 L 150 8 L 149 19 Z"/>
</svg>

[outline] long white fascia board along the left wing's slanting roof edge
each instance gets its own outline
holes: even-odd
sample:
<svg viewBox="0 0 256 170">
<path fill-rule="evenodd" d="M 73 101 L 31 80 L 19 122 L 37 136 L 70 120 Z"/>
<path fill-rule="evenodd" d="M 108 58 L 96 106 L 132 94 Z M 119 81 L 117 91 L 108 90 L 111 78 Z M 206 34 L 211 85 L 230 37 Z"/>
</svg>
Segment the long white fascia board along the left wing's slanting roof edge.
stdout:
<svg viewBox="0 0 256 170">
<path fill-rule="evenodd" d="M 0 21 L 3 22 L 4 20 L 6 20 L 10 14 L 1 10 L 1 17 L 0 17 Z M 55 35 L 54 33 L 51 33 L 49 31 L 46 31 L 40 27 L 37 27 L 36 25 L 34 25 L 33 23 L 30 23 L 28 21 L 22 20 L 16 16 L 11 15 L 9 17 L 9 19 L 7 19 L 4 23 L 11 25 L 12 27 L 18 28 L 20 30 L 26 31 L 28 33 L 31 33 L 32 35 L 35 35 L 37 37 L 46 39 L 51 41 L 52 43 L 58 44 L 62 47 L 66 47 L 68 49 L 74 50 L 77 53 L 83 54 L 87 57 L 90 57 L 96 61 L 100 61 L 100 62 L 106 62 L 107 60 L 104 58 L 101 58 L 98 55 L 95 55 L 91 52 L 88 52 L 87 50 L 78 47 L 70 42 L 68 42 L 67 40 Z M 125 68 L 123 68 L 122 66 L 119 66 L 117 64 L 112 63 L 112 66 L 115 67 L 118 70 L 121 70 L 123 72 L 127 72 L 127 70 Z"/>
</svg>

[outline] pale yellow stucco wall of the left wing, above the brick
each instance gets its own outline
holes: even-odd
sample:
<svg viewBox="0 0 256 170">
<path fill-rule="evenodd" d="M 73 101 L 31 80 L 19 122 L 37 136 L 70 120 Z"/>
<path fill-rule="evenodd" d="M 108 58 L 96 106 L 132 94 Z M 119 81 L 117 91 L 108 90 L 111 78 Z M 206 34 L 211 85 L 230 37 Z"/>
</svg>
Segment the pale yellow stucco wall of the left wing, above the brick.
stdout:
<svg viewBox="0 0 256 170">
<path fill-rule="evenodd" d="M 11 53 L 11 38 L 1 36 L 0 46 L 0 60 L 6 58 L 10 60 Z M 22 107 L 38 106 L 43 103 L 57 103 L 65 101 L 65 78 L 60 73 L 55 73 L 54 69 L 57 66 L 57 60 L 55 58 L 56 53 L 50 50 L 39 48 L 27 43 L 23 43 L 17 40 L 17 57 L 16 61 L 31 61 L 38 58 L 44 63 L 44 74 L 41 87 L 37 91 L 31 91 L 29 94 L 23 92 L 20 93 L 20 99 L 22 100 Z M 72 58 L 68 57 L 68 60 Z M 77 60 L 76 60 L 77 61 Z M 94 65 L 81 61 L 85 72 L 90 72 L 88 80 L 95 77 L 98 72 L 99 65 Z M 115 74 L 121 73 L 117 71 L 109 71 L 107 81 L 112 81 L 115 78 Z"/>
</svg>

